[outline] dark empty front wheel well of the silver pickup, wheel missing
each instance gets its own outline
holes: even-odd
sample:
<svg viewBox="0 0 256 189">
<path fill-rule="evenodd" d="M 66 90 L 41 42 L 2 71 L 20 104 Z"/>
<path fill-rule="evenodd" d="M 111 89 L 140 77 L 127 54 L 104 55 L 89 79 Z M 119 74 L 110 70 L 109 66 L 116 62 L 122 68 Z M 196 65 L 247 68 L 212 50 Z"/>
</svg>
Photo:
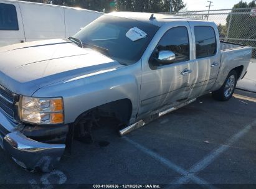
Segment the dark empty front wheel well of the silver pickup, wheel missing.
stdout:
<svg viewBox="0 0 256 189">
<path fill-rule="evenodd" d="M 111 127 L 114 130 L 119 130 L 127 126 L 131 118 L 132 109 L 130 99 L 120 99 L 102 104 L 80 114 L 75 122 L 69 126 L 69 134 L 66 141 L 69 153 L 71 153 L 73 139 L 92 144 L 95 142 L 95 133 L 93 134 L 95 129 L 103 128 L 108 130 Z M 111 131 L 111 129 L 108 131 Z"/>
</svg>

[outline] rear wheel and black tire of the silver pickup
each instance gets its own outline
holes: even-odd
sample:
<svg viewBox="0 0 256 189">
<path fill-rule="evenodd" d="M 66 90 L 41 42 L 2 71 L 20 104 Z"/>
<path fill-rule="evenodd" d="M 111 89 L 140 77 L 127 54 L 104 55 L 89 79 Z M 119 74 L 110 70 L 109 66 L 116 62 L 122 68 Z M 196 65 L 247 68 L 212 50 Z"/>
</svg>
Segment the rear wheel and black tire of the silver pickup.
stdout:
<svg viewBox="0 0 256 189">
<path fill-rule="evenodd" d="M 233 80 L 234 80 L 234 83 L 233 83 Z M 227 88 L 226 85 L 229 85 L 229 84 L 230 86 L 229 88 Z M 229 72 L 229 75 L 225 79 L 225 82 L 222 85 L 222 87 L 219 90 L 212 92 L 212 98 L 218 101 L 228 101 L 232 97 L 235 91 L 236 85 L 237 85 L 237 71 L 232 70 Z"/>
</svg>

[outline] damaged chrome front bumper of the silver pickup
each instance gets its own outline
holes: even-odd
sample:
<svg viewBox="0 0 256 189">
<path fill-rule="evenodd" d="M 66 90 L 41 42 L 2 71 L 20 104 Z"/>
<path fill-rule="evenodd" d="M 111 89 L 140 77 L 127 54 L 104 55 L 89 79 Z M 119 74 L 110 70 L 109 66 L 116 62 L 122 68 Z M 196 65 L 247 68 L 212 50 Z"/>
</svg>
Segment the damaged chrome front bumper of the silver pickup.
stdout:
<svg viewBox="0 0 256 189">
<path fill-rule="evenodd" d="M 49 172 L 59 162 L 65 144 L 37 142 L 17 131 L 17 124 L 0 111 L 0 146 L 28 170 Z"/>
</svg>

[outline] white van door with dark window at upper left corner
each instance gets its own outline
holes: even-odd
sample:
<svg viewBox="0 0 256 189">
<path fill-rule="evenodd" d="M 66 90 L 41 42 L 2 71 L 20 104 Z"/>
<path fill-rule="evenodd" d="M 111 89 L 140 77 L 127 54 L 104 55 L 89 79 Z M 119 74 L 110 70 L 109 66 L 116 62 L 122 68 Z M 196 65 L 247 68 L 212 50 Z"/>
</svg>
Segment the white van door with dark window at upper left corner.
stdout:
<svg viewBox="0 0 256 189">
<path fill-rule="evenodd" d="M 0 47 L 25 42 L 19 3 L 0 1 Z"/>
</svg>

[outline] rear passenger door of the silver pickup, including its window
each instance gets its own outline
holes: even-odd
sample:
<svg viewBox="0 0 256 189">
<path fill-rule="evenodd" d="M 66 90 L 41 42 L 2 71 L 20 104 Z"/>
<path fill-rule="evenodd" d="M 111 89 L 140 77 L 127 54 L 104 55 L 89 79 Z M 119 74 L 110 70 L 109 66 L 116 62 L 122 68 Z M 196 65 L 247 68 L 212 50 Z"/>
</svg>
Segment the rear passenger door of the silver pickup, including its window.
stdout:
<svg viewBox="0 0 256 189">
<path fill-rule="evenodd" d="M 214 86 L 220 67 L 220 45 L 216 25 L 211 22 L 189 22 L 194 45 L 196 80 L 191 98 L 210 91 Z"/>
</svg>

